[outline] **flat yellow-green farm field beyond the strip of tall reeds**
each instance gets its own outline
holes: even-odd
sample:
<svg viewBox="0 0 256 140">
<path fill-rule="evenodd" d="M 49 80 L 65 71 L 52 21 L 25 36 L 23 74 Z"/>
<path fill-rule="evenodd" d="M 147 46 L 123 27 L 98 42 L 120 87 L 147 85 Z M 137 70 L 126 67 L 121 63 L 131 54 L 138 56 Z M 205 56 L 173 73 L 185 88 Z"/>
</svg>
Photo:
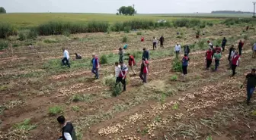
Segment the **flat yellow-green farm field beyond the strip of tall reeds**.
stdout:
<svg viewBox="0 0 256 140">
<path fill-rule="evenodd" d="M 166 16 L 166 17 L 165 17 Z M 18 27 L 37 26 L 51 20 L 62 20 L 70 22 L 87 22 L 87 21 L 107 21 L 110 23 L 123 22 L 128 20 L 174 20 L 181 17 L 171 17 L 172 14 L 136 14 L 135 16 L 117 16 L 116 14 L 68 14 L 68 13 L 48 13 L 48 14 L 0 14 L 2 21 L 14 24 Z M 190 15 L 188 15 L 190 16 Z M 218 17 L 218 16 L 217 16 Z M 192 18 L 192 17 L 191 17 Z M 194 17 L 196 18 L 196 17 Z M 216 18 L 209 17 L 204 20 L 216 22 Z M 219 18 L 218 18 L 219 20 Z"/>
</svg>

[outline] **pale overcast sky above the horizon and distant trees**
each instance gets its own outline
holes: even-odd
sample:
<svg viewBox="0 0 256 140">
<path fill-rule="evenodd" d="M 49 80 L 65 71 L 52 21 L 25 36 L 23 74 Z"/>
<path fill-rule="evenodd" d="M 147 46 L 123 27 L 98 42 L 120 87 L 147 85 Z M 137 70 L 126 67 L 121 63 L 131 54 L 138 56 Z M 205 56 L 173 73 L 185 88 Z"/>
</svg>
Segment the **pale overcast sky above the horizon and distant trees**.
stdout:
<svg viewBox="0 0 256 140">
<path fill-rule="evenodd" d="M 208 13 L 216 10 L 253 11 L 253 0 L 0 0 L 12 12 L 116 13 L 135 5 L 140 14 Z M 256 0 L 255 0 L 256 1 Z"/>
</svg>

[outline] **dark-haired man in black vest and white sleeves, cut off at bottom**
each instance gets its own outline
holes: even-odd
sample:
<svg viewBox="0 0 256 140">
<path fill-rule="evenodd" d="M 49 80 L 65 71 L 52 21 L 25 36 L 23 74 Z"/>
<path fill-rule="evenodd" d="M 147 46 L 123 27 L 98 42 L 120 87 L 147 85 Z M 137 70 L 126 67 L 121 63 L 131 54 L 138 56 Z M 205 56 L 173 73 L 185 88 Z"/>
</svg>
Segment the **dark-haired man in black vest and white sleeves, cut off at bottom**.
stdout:
<svg viewBox="0 0 256 140">
<path fill-rule="evenodd" d="M 62 136 L 59 138 L 59 140 L 76 140 L 75 135 L 75 128 L 72 125 L 72 123 L 67 122 L 65 117 L 59 116 L 57 118 L 57 121 L 62 127 Z"/>
</svg>

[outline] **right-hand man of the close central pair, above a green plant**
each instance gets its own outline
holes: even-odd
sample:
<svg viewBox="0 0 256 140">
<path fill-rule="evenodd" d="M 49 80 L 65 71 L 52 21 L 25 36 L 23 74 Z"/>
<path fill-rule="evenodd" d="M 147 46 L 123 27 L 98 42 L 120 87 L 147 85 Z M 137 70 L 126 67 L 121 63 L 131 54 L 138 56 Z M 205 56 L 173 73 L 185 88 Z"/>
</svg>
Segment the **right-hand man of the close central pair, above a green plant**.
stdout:
<svg viewBox="0 0 256 140">
<path fill-rule="evenodd" d="M 125 92 L 126 91 L 126 76 L 128 73 L 128 67 L 123 62 L 120 62 L 120 68 L 121 68 L 121 71 L 119 73 L 117 83 L 121 82 L 123 84 L 123 92 Z"/>
</svg>

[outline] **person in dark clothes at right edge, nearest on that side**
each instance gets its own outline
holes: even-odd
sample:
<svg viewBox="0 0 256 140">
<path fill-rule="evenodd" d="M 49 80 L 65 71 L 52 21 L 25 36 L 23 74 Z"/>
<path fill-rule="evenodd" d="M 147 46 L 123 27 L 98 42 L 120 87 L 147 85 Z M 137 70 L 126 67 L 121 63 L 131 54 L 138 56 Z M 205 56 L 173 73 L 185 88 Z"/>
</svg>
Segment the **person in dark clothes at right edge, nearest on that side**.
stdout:
<svg viewBox="0 0 256 140">
<path fill-rule="evenodd" d="M 245 85 L 245 83 L 247 83 L 246 86 L 246 90 L 247 90 L 247 100 L 246 100 L 246 104 L 250 104 L 250 100 L 251 100 L 251 96 L 254 92 L 255 86 L 256 86 L 256 69 L 251 69 L 251 73 L 248 73 L 245 76 L 245 82 L 243 83 L 243 85 Z M 243 86 L 242 85 L 242 86 Z M 242 88 L 241 86 L 241 88 Z"/>
</svg>

